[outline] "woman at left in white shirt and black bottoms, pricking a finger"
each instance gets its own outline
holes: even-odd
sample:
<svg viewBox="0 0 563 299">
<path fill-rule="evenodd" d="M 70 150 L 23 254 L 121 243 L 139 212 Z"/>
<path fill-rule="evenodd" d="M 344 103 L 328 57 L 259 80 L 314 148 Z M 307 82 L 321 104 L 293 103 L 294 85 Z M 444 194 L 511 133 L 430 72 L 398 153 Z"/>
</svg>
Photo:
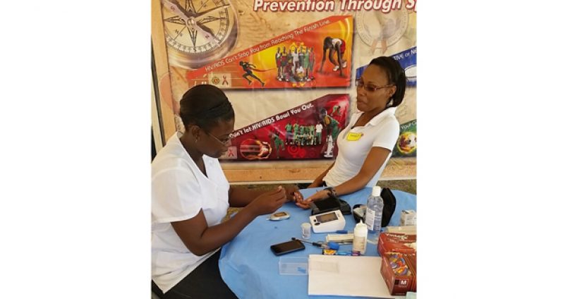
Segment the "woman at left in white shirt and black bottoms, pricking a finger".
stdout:
<svg viewBox="0 0 563 299">
<path fill-rule="evenodd" d="M 219 249 L 256 216 L 302 196 L 296 186 L 229 186 L 217 158 L 231 145 L 234 110 L 219 88 L 191 88 L 179 114 L 185 133 L 152 162 L 152 291 L 161 299 L 236 298 L 219 274 Z M 243 208 L 222 223 L 229 206 Z"/>
</svg>

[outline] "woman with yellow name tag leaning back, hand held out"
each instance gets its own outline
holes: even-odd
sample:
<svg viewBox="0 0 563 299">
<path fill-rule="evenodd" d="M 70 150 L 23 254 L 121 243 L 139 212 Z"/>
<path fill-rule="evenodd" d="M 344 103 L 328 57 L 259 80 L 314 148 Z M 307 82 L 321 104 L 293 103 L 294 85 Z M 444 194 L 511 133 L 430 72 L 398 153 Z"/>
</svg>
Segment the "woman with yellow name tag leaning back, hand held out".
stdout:
<svg viewBox="0 0 563 299">
<path fill-rule="evenodd" d="M 299 207 L 307 209 L 313 200 L 353 193 L 377 183 L 399 138 L 395 110 L 403 101 L 405 87 L 404 69 L 392 57 L 381 56 L 370 62 L 356 80 L 359 112 L 338 135 L 337 158 L 309 185 L 328 188 L 298 200 Z"/>
</svg>

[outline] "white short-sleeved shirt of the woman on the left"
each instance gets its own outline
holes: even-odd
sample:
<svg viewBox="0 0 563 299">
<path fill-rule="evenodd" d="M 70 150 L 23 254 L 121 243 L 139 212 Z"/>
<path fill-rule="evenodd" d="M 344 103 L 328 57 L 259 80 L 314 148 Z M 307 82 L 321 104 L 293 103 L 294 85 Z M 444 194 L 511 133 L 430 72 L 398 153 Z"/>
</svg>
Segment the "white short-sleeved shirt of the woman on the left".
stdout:
<svg viewBox="0 0 563 299">
<path fill-rule="evenodd" d="M 183 148 L 181 133 L 152 161 L 152 280 L 166 293 L 214 252 L 194 255 L 170 222 L 203 210 L 207 226 L 221 223 L 229 207 L 229 182 L 217 159 L 203 156 L 207 177 Z"/>
</svg>

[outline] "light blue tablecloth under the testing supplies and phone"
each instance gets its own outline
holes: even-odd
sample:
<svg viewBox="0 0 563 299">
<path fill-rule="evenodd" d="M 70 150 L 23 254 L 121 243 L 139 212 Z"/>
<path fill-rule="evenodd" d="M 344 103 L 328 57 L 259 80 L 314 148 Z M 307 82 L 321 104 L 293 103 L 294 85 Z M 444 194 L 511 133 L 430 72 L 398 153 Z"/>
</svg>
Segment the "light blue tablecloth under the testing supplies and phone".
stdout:
<svg viewBox="0 0 563 299">
<path fill-rule="evenodd" d="M 312 195 L 320 188 L 303 189 L 304 197 Z M 416 210 L 416 195 L 399 190 L 392 190 L 396 198 L 395 212 L 389 226 L 398 226 L 401 210 Z M 357 204 L 365 205 L 371 188 L 358 190 L 356 193 L 341 196 L 350 207 Z M 258 216 L 230 243 L 223 246 L 219 259 L 219 270 L 225 283 L 238 298 L 315 298 L 337 299 L 341 296 L 309 296 L 307 295 L 307 275 L 281 275 L 278 272 L 280 257 L 308 257 L 320 255 L 322 250 L 309 243 L 305 250 L 276 256 L 270 250 L 270 245 L 291 240 L 291 237 L 301 238 L 301 224 L 309 221 L 310 209 L 301 209 L 293 202 L 286 203 L 279 211 L 286 211 L 291 217 L 282 221 L 267 220 L 267 215 Z M 344 215 L 346 230 L 353 232 L 356 221 L 352 215 Z M 327 233 L 313 233 L 309 240 L 325 240 Z M 351 250 L 351 245 L 341 245 L 341 250 Z M 365 255 L 379 256 L 375 245 L 368 243 Z M 356 297 L 357 298 L 357 297 Z"/>
</svg>

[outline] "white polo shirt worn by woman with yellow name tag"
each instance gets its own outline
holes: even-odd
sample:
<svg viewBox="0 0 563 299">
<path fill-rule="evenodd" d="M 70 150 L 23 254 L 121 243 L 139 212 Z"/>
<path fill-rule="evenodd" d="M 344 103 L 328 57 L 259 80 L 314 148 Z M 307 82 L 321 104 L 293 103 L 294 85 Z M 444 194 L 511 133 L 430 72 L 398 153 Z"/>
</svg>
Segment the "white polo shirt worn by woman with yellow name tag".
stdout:
<svg viewBox="0 0 563 299">
<path fill-rule="evenodd" d="M 397 138 L 399 138 L 399 121 L 396 120 L 395 110 L 396 107 L 387 108 L 374 116 L 365 126 L 356 128 L 352 128 L 352 126 L 363 112 L 353 114 L 348 126 L 338 135 L 338 155 L 336 161 L 334 161 L 334 166 L 323 178 L 328 186 L 335 187 L 356 176 L 372 147 L 383 147 L 393 152 L 393 147 Z M 363 135 L 360 139 L 351 141 L 346 138 L 350 132 L 362 133 Z M 389 161 L 389 157 L 391 157 L 391 152 L 365 187 L 371 188 L 377 183 L 385 165 L 387 165 L 387 161 Z"/>
</svg>

